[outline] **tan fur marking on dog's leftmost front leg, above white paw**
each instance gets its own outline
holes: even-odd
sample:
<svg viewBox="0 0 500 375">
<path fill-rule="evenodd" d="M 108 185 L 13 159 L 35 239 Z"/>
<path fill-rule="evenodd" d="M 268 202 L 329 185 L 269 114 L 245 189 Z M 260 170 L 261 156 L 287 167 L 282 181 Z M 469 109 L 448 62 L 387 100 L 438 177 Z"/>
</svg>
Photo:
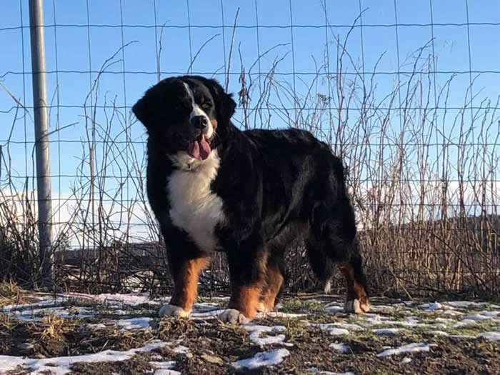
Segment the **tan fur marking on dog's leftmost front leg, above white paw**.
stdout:
<svg viewBox="0 0 500 375">
<path fill-rule="evenodd" d="M 209 256 L 189 259 L 182 264 L 174 279 L 174 293 L 170 300 L 171 305 L 179 306 L 190 312 L 198 294 L 198 276 L 210 261 Z"/>
</svg>

